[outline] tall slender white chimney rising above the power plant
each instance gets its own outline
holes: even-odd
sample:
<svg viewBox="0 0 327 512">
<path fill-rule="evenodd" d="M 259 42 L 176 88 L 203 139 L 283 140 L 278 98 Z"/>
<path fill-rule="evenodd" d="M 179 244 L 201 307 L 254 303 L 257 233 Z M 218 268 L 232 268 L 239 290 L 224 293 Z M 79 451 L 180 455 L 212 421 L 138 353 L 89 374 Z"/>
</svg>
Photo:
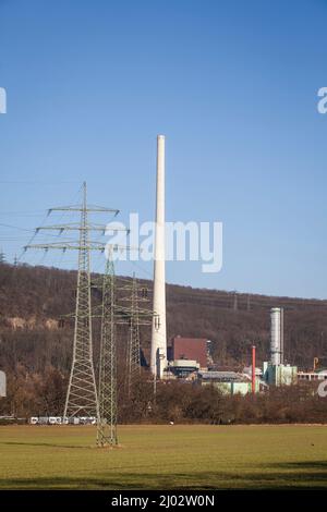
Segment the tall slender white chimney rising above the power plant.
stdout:
<svg viewBox="0 0 327 512">
<path fill-rule="evenodd" d="M 157 136 L 157 205 L 154 261 L 154 312 L 152 373 L 162 378 L 167 366 L 166 277 L 165 277 L 165 136 Z"/>
</svg>

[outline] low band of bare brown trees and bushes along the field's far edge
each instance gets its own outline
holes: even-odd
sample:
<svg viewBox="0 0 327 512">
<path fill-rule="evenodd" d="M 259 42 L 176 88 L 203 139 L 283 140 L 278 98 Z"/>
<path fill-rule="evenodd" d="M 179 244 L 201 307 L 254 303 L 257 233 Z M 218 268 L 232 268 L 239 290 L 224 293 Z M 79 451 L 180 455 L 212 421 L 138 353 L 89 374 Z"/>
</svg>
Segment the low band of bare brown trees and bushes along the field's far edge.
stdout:
<svg viewBox="0 0 327 512">
<path fill-rule="evenodd" d="M 221 394 L 214 386 L 169 381 L 157 383 L 156 394 L 149 371 L 144 370 L 132 389 L 119 379 L 119 423 L 169 422 L 231 424 L 327 423 L 327 400 L 316 393 L 316 383 L 271 388 L 263 394 Z M 20 365 L 9 377 L 9 393 L 0 401 L 0 415 L 16 418 L 62 416 L 66 377 L 53 367 L 44 374 Z"/>
</svg>

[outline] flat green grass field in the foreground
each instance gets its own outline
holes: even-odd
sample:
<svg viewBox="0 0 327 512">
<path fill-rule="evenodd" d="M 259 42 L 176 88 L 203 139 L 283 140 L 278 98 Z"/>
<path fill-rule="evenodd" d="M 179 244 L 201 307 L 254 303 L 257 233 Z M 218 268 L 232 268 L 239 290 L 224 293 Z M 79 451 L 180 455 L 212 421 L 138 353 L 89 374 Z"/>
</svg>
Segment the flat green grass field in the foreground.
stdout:
<svg viewBox="0 0 327 512">
<path fill-rule="evenodd" d="M 88 426 L 0 427 L 0 488 L 327 487 L 324 426 L 122 426 L 120 448 Z"/>
</svg>

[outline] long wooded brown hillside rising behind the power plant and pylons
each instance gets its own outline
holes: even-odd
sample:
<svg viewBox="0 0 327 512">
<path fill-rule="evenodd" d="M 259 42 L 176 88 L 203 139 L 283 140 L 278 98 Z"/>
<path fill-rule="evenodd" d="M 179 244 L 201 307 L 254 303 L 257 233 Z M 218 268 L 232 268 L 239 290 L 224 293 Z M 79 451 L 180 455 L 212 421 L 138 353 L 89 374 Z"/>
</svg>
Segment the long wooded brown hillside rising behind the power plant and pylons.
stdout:
<svg viewBox="0 0 327 512">
<path fill-rule="evenodd" d="M 149 289 L 152 283 L 143 281 Z M 0 368 L 23 365 L 43 373 L 52 366 L 63 374 L 72 355 L 71 320 L 76 272 L 46 267 L 0 265 Z M 150 298 L 150 293 L 149 293 Z M 93 292 L 94 304 L 100 293 Z M 269 308 L 284 307 L 286 361 L 311 368 L 315 356 L 327 355 L 327 301 L 270 297 L 167 285 L 168 337 L 207 337 L 220 367 L 241 368 L 250 363 L 251 345 L 258 363 L 268 357 Z M 150 301 L 148 303 L 150 307 Z M 95 357 L 98 326 L 95 322 Z M 125 336 L 119 333 L 123 348 Z M 149 355 L 149 328 L 142 328 L 142 350 Z"/>
</svg>

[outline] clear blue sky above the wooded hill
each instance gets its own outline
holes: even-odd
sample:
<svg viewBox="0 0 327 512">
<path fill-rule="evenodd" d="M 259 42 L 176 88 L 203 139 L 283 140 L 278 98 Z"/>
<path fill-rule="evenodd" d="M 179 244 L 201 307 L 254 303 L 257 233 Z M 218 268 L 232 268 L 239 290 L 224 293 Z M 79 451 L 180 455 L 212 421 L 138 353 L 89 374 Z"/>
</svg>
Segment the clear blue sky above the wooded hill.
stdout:
<svg viewBox="0 0 327 512">
<path fill-rule="evenodd" d="M 326 27 L 323 0 L 0 0 L 8 259 L 83 180 L 92 203 L 153 219 L 164 133 L 167 219 L 225 234 L 221 272 L 168 264 L 168 281 L 326 298 Z M 74 264 L 58 258 L 24 260 Z"/>
</svg>

